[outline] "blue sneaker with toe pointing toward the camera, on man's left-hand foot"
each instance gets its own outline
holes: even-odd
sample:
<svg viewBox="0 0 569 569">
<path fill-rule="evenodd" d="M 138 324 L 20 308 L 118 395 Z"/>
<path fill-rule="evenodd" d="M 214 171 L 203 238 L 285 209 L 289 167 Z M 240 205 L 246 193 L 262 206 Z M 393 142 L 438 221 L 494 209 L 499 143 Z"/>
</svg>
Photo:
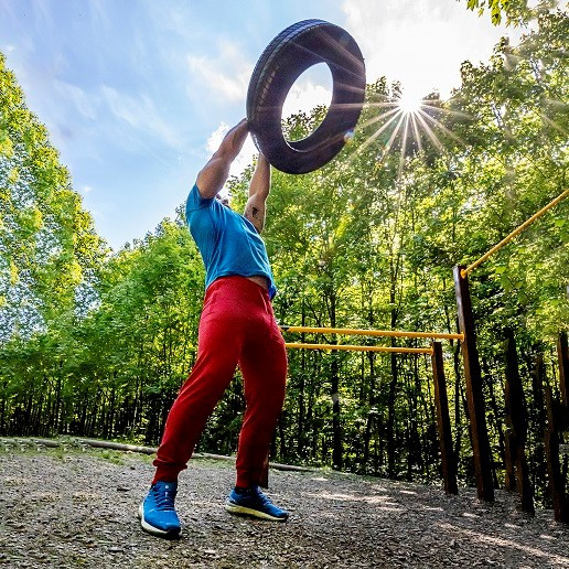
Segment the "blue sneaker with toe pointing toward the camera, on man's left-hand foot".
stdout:
<svg viewBox="0 0 569 569">
<path fill-rule="evenodd" d="M 182 526 L 174 509 L 178 492 L 175 482 L 157 482 L 150 487 L 144 502 L 138 508 L 142 529 L 154 536 L 174 539 L 180 536 Z"/>
</svg>

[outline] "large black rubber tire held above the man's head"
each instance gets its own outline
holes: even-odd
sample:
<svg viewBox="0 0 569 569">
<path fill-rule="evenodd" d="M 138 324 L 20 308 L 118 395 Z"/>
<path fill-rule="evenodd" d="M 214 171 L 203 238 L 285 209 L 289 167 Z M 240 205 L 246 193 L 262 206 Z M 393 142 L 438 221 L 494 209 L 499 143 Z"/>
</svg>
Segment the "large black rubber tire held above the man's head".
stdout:
<svg viewBox="0 0 569 569">
<path fill-rule="evenodd" d="M 297 78 L 325 63 L 333 80 L 324 120 L 307 138 L 287 141 L 282 105 Z M 249 82 L 247 120 L 255 144 L 277 169 L 304 174 L 323 167 L 344 147 L 362 112 L 365 65 L 355 40 L 342 28 L 304 20 L 283 30 L 262 52 Z"/>
</svg>

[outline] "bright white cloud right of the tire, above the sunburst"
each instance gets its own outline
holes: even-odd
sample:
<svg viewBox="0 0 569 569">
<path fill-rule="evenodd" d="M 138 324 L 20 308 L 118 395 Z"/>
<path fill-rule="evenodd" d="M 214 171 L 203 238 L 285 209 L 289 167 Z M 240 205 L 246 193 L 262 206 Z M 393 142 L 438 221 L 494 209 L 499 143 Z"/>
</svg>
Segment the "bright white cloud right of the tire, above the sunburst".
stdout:
<svg viewBox="0 0 569 569">
<path fill-rule="evenodd" d="M 346 0 L 342 10 L 364 54 L 367 82 L 385 75 L 417 96 L 432 88 L 448 96 L 460 86 L 462 62 L 486 61 L 500 36 L 519 36 L 449 0 Z"/>
</svg>

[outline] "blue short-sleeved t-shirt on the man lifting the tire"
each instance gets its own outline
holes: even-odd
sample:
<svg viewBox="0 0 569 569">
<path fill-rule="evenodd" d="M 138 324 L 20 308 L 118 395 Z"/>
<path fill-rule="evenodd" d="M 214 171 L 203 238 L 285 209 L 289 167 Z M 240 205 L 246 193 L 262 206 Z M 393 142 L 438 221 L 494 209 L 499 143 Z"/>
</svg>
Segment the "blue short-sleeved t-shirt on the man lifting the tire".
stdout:
<svg viewBox="0 0 569 569">
<path fill-rule="evenodd" d="M 197 185 L 185 203 L 185 218 L 205 265 L 205 288 L 219 277 L 266 277 L 269 298 L 277 293 L 265 243 L 255 225 L 215 197 L 205 200 Z"/>
</svg>

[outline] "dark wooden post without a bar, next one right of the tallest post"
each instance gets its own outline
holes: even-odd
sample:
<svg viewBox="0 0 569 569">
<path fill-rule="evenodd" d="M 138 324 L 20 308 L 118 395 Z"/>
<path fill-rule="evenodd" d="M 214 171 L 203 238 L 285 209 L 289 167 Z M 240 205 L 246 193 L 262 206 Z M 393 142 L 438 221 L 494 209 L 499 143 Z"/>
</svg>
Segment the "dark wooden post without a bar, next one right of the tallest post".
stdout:
<svg viewBox="0 0 569 569">
<path fill-rule="evenodd" d="M 506 489 L 515 487 L 519 495 L 518 509 L 535 515 L 534 489 L 529 481 L 529 469 L 526 459 L 527 440 L 527 408 L 524 397 L 524 387 L 519 377 L 516 341 L 512 330 L 506 331 L 506 449 L 509 448 L 511 463 L 506 460 Z M 508 452 L 506 451 L 506 459 Z M 508 471 L 509 469 L 509 471 Z M 508 480 L 513 475 L 514 480 Z"/>
</svg>

